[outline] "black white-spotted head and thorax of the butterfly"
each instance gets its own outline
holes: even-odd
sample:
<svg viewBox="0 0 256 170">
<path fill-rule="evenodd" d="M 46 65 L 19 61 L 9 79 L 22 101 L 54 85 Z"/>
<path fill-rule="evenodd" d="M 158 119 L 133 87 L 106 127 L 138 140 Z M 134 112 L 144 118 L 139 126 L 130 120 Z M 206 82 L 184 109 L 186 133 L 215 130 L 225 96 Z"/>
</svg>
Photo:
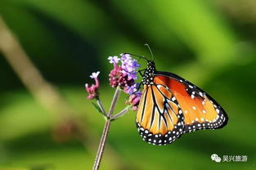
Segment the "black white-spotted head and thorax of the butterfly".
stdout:
<svg viewBox="0 0 256 170">
<path fill-rule="evenodd" d="M 147 61 L 147 67 L 143 74 L 142 83 L 144 85 L 154 84 L 153 83 L 154 76 L 155 76 L 155 62 L 149 60 Z"/>
</svg>

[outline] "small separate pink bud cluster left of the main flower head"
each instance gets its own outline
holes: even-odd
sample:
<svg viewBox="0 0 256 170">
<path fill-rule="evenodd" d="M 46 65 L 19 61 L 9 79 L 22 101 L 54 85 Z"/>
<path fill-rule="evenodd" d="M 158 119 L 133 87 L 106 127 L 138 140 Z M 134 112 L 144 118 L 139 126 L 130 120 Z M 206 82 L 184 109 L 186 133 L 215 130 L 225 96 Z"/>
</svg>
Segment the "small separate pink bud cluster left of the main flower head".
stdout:
<svg viewBox="0 0 256 170">
<path fill-rule="evenodd" d="M 85 84 L 85 89 L 88 92 L 89 96 L 87 97 L 88 99 L 98 99 L 99 98 L 99 92 L 98 89 L 100 87 L 100 82 L 98 80 L 98 75 L 100 74 L 99 71 L 97 71 L 97 73 L 92 73 L 92 75 L 90 75 L 90 78 L 94 78 L 95 80 L 95 84 L 92 84 L 92 86 L 89 86 L 88 83 Z"/>
</svg>

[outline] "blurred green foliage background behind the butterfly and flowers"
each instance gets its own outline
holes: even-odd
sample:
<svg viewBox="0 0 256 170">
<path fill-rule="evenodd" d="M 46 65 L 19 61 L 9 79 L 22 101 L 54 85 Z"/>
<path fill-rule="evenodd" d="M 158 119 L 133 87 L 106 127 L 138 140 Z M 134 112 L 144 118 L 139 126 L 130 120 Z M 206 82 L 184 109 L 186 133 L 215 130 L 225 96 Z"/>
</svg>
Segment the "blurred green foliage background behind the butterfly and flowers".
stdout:
<svg viewBox="0 0 256 170">
<path fill-rule="evenodd" d="M 150 57 L 145 42 L 157 69 L 209 92 L 229 123 L 153 146 L 137 134 L 131 111 L 112 123 L 101 169 L 256 169 L 254 0 L 1 0 L 0 15 L 88 134 L 86 143 L 74 137 L 72 123 L 60 124 L 60 116 L 40 105 L 0 53 L 1 170 L 91 169 L 104 119 L 86 100 L 84 83 L 93 83 L 89 75 L 101 71 L 101 99 L 108 108 L 115 90 L 108 85 L 106 58 L 122 52 Z M 215 163 L 213 153 L 247 155 L 248 161 Z"/>
</svg>

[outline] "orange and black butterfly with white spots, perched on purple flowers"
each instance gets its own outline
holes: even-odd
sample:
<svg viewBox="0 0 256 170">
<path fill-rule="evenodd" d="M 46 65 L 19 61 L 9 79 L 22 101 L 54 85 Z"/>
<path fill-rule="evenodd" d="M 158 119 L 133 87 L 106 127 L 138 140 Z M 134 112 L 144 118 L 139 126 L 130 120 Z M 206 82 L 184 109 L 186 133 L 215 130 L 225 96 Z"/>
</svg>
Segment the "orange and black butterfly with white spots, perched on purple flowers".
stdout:
<svg viewBox="0 0 256 170">
<path fill-rule="evenodd" d="M 155 69 L 147 60 L 137 110 L 137 130 L 153 145 L 168 145 L 186 132 L 223 128 L 226 112 L 209 94 L 186 79 Z"/>
</svg>

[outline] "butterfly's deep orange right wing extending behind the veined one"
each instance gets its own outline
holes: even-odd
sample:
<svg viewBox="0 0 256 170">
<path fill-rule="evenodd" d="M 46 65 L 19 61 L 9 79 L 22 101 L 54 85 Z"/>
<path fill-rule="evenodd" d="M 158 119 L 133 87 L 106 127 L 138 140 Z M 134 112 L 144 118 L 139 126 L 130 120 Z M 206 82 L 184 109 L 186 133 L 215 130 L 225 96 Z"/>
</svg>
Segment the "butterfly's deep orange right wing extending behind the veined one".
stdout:
<svg viewBox="0 0 256 170">
<path fill-rule="evenodd" d="M 155 84 L 164 84 L 176 97 L 184 115 L 184 132 L 222 128 L 228 117 L 216 101 L 206 92 L 185 79 L 167 72 L 157 72 Z"/>
</svg>

